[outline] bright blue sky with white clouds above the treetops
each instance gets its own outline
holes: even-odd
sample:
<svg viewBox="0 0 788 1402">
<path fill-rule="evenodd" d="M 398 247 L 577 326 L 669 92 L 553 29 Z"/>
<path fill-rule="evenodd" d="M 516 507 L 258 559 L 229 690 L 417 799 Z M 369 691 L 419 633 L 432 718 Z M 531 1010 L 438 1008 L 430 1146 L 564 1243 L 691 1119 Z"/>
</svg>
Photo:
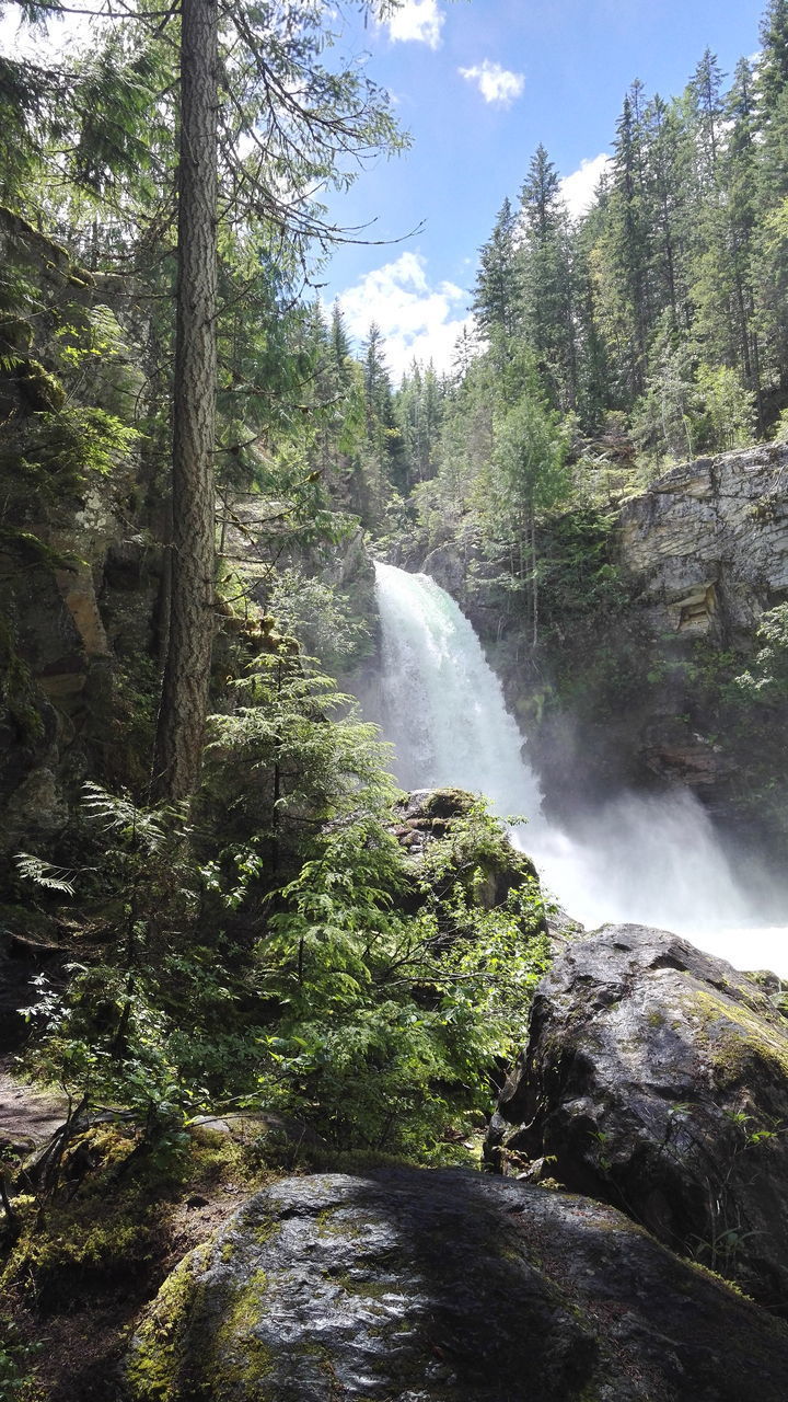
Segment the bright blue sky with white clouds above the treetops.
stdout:
<svg viewBox="0 0 788 1402">
<path fill-rule="evenodd" d="M 759 48 L 766 0 L 405 0 L 387 24 L 351 20 L 338 53 L 367 55 L 412 146 L 331 200 L 342 226 L 393 247 L 344 247 L 317 278 L 349 329 L 374 318 L 400 374 L 412 355 L 447 367 L 480 245 L 516 198 L 540 142 L 582 206 L 611 150 L 630 83 L 677 95 L 704 49 L 726 73 Z M 365 237 L 365 236 L 362 236 Z"/>
</svg>

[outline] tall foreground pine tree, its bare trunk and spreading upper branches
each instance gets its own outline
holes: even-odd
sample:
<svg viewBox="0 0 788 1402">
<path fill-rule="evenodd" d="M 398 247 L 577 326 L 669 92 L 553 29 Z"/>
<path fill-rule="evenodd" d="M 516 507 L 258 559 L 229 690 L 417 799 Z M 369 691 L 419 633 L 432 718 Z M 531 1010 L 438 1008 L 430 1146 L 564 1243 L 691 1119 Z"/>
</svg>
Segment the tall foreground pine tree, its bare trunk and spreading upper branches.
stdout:
<svg viewBox="0 0 788 1402">
<path fill-rule="evenodd" d="M 35 7 L 32 13 L 38 17 Z M 7 87 L 11 115 L 28 136 L 28 150 L 41 167 L 48 158 L 55 163 L 59 191 L 90 191 L 97 215 L 111 210 L 115 248 L 123 251 L 126 265 L 142 254 L 143 266 L 161 266 L 171 252 L 177 210 L 174 529 L 156 754 L 157 787 L 168 796 L 195 788 L 208 705 L 213 631 L 209 464 L 217 447 L 216 327 L 223 311 L 216 299 L 217 210 L 223 251 L 237 244 L 234 230 L 244 230 L 247 248 L 268 244 L 275 230 L 285 257 L 304 259 L 310 241 L 327 247 L 338 234 L 322 222 L 313 188 L 352 178 L 346 170 L 339 172 L 338 163 L 398 144 L 386 100 L 374 86 L 358 70 L 338 74 L 321 64 L 321 10 L 301 0 L 283 0 L 275 15 L 237 3 L 223 13 L 220 32 L 216 0 L 185 0 L 182 20 L 174 11 L 130 11 L 128 29 L 111 36 L 79 83 L 49 76 L 42 100 L 31 97 L 38 70 L 31 77 L 31 66 L 3 64 L 3 76 L 15 80 L 15 90 Z M 129 60 L 135 45 L 142 56 Z M 172 83 L 174 52 L 179 84 Z M 59 109 L 57 98 L 69 87 L 74 93 Z M 181 133 L 177 192 L 171 181 L 175 130 Z M 126 174 L 128 188 L 121 181 Z M 144 198 L 146 184 L 156 193 L 153 202 Z M 42 203 L 46 207 L 46 199 Z M 254 294 L 266 273 L 258 258 L 245 293 Z M 156 293 L 161 294 L 158 286 Z M 230 306 L 238 294 L 236 287 Z M 163 358 L 167 350 L 161 348 Z M 261 397 L 265 390 L 261 395 L 255 387 L 250 402 Z"/>
</svg>

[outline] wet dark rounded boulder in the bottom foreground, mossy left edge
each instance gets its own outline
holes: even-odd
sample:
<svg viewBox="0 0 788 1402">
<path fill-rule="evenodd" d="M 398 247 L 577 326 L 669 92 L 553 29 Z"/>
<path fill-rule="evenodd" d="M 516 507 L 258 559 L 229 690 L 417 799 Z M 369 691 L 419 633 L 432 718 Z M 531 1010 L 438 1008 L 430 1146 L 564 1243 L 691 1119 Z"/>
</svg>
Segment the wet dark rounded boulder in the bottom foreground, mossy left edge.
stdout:
<svg viewBox="0 0 788 1402">
<path fill-rule="evenodd" d="M 178 1266 L 133 1402 L 784 1402 L 788 1332 L 620 1213 L 477 1173 L 275 1183 Z"/>
</svg>

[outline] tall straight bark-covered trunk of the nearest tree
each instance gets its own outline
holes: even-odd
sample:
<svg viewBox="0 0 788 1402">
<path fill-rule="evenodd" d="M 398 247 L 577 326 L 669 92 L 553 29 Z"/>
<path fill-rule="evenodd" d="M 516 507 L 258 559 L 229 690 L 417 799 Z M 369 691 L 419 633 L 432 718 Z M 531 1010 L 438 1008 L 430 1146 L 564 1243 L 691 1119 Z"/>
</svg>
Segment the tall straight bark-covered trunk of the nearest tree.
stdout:
<svg viewBox="0 0 788 1402">
<path fill-rule="evenodd" d="M 172 585 L 154 788 L 198 782 L 213 642 L 217 0 L 182 0 L 178 286 L 172 395 Z"/>
</svg>

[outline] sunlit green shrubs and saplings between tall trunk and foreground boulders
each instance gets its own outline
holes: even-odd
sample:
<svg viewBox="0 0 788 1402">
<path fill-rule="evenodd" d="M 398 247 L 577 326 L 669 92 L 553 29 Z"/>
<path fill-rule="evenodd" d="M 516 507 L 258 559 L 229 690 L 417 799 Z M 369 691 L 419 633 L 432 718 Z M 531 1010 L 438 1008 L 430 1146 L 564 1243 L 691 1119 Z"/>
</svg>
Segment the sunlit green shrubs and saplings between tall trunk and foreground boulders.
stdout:
<svg viewBox="0 0 788 1402">
<path fill-rule="evenodd" d="M 280 749 L 282 711 L 276 753 L 290 778 L 306 757 L 322 778 L 310 763 L 278 817 L 269 792 L 262 830 L 259 795 L 237 798 L 219 837 L 206 813 L 192 829 L 178 809 L 88 789 L 101 854 L 76 879 L 101 889 L 105 910 L 116 892 L 115 939 L 101 962 L 72 963 L 66 993 L 36 980 L 29 1064 L 88 1103 L 130 1106 L 158 1134 L 238 1098 L 296 1113 L 344 1148 L 451 1157 L 446 1130 L 485 1113 L 547 967 L 538 885 L 478 805 L 442 820 L 414 865 L 388 827 L 374 751 L 359 753 L 365 728 L 346 723 L 345 749 L 342 725 L 310 718 L 311 693 L 290 694 L 296 704 L 297 743 Z M 255 722 L 245 767 L 252 754 L 258 773 L 262 754 L 271 764 L 271 743 Z M 310 831 L 297 847 L 280 837 L 296 806 Z M 62 886 L 32 861 L 25 873 L 52 896 Z"/>
</svg>

